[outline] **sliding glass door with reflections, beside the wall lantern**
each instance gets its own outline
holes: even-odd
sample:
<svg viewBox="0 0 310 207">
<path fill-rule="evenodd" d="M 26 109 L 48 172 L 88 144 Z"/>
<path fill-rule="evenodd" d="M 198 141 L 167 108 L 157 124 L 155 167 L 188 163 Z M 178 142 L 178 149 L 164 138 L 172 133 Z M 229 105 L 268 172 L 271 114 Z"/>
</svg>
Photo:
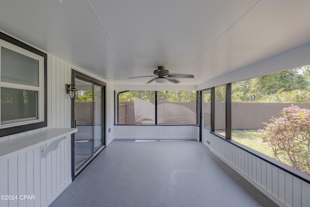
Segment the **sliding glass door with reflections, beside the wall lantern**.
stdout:
<svg viewBox="0 0 310 207">
<path fill-rule="evenodd" d="M 78 128 L 74 139 L 75 175 L 104 145 L 103 86 L 75 77 L 78 98 L 74 103 L 74 123 Z"/>
</svg>

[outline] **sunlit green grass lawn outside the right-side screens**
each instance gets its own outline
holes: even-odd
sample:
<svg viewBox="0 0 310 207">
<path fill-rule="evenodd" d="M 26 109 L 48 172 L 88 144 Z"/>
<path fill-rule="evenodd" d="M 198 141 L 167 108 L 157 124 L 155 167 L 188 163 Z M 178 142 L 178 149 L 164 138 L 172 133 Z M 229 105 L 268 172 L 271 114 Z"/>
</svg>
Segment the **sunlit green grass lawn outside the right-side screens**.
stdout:
<svg viewBox="0 0 310 207">
<path fill-rule="evenodd" d="M 217 131 L 217 133 L 225 136 L 225 131 Z M 275 159 L 271 146 L 263 142 L 263 139 L 258 136 L 259 133 L 253 129 L 232 130 L 232 140 Z"/>
</svg>

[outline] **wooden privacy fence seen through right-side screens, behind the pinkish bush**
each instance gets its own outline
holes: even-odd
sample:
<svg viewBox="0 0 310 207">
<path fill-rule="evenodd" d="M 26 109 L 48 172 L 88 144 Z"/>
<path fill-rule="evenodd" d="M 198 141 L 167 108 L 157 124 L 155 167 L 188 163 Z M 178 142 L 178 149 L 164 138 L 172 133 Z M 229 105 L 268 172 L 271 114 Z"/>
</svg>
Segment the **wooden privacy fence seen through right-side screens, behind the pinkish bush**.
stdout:
<svg viewBox="0 0 310 207">
<path fill-rule="evenodd" d="M 292 104 L 310 109 L 310 103 L 232 103 L 232 129 L 261 129 L 271 123 L 272 116 L 279 117 L 283 108 Z M 225 129 L 225 103 L 215 105 L 215 129 Z"/>
</svg>

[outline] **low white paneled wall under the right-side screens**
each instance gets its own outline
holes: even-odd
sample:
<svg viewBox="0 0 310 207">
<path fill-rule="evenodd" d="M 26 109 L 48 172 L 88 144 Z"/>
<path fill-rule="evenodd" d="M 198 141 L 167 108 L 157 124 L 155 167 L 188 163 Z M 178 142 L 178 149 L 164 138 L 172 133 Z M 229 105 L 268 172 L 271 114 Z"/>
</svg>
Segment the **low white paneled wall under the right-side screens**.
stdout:
<svg viewBox="0 0 310 207">
<path fill-rule="evenodd" d="M 210 150 L 282 207 L 310 207 L 310 184 L 211 134 Z"/>
</svg>

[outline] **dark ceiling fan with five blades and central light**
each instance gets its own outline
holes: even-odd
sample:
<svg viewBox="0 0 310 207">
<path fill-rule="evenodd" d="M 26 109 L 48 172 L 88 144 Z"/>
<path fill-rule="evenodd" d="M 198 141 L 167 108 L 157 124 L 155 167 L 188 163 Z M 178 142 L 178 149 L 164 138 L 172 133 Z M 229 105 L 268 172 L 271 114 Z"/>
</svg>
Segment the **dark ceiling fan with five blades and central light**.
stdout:
<svg viewBox="0 0 310 207">
<path fill-rule="evenodd" d="M 154 75 L 155 76 L 131 77 L 129 79 L 142 78 L 142 77 L 156 77 L 154 79 L 149 80 L 147 83 L 150 83 L 154 80 L 157 83 L 165 83 L 167 82 L 167 80 L 174 82 L 174 83 L 179 83 L 180 82 L 179 80 L 171 79 L 171 78 L 194 78 L 193 75 L 187 75 L 187 74 L 180 74 L 180 73 L 169 74 L 169 70 L 166 70 L 165 66 L 158 66 L 158 68 L 154 70 Z"/>
</svg>

